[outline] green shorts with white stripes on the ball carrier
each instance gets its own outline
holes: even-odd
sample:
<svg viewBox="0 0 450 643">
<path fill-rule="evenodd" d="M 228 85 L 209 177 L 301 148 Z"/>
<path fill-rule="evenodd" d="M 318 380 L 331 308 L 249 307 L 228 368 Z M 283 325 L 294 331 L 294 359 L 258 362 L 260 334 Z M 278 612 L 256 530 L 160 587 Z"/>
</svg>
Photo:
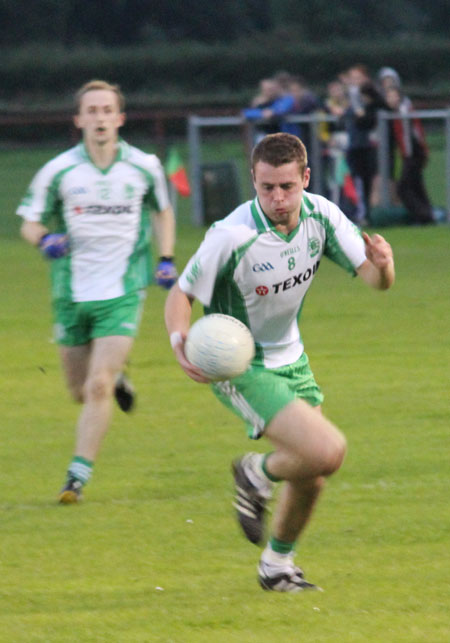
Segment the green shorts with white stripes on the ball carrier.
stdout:
<svg viewBox="0 0 450 643">
<path fill-rule="evenodd" d="M 253 440 L 258 440 L 267 424 L 293 400 L 303 399 L 311 406 L 323 402 L 306 353 L 281 368 L 252 366 L 230 381 L 215 382 L 212 389 L 222 404 L 244 420 Z"/>
</svg>

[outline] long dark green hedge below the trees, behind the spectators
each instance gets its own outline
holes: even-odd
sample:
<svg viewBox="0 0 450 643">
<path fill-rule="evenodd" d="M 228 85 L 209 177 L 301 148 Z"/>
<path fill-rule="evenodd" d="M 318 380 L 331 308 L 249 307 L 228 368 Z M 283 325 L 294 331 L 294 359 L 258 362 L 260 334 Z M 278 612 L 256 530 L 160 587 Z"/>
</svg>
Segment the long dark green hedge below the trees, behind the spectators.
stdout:
<svg viewBox="0 0 450 643">
<path fill-rule="evenodd" d="M 71 106 L 74 88 L 91 78 L 118 82 L 129 104 L 242 105 L 257 82 L 284 69 L 300 74 L 314 89 L 355 62 L 365 63 L 375 74 L 395 67 L 408 87 L 427 96 L 449 89 L 450 41 L 445 38 L 340 40 L 317 44 L 299 40 L 284 31 L 232 47 L 227 43 L 181 41 L 132 47 L 28 45 L 5 49 L 0 85 L 5 109 L 33 109 L 41 105 Z M 139 98 L 139 100 L 138 100 Z"/>
</svg>

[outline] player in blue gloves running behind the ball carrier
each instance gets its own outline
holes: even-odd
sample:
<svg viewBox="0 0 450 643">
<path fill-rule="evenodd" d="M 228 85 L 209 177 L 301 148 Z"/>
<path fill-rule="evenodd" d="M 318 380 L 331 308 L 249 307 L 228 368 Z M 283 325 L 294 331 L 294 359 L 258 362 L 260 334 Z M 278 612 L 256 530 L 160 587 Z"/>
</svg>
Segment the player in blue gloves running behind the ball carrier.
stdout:
<svg viewBox="0 0 450 643">
<path fill-rule="evenodd" d="M 108 430 L 112 399 L 133 406 L 123 375 L 152 281 L 151 215 L 159 246 L 156 281 L 169 289 L 175 217 L 158 158 L 119 138 L 117 85 L 94 80 L 76 94 L 83 140 L 34 177 L 17 214 L 21 234 L 51 262 L 55 339 L 68 388 L 82 409 L 73 459 L 59 495 L 77 502 Z"/>
</svg>

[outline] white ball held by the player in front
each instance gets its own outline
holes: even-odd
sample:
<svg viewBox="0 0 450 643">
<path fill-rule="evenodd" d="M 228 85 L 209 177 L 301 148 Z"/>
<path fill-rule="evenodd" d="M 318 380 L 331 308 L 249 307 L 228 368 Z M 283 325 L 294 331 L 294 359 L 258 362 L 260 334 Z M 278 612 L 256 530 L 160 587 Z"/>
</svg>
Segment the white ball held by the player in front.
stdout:
<svg viewBox="0 0 450 643">
<path fill-rule="evenodd" d="M 228 380 L 247 370 L 255 343 L 245 324 L 230 315 L 213 313 L 191 326 L 184 352 L 211 380 Z"/>
</svg>

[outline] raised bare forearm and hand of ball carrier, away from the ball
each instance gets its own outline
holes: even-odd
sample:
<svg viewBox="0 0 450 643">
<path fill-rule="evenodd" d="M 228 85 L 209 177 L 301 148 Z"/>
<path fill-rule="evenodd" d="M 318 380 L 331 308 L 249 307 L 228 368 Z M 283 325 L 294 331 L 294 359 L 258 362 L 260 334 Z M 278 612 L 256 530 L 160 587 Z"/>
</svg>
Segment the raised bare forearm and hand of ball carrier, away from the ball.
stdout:
<svg viewBox="0 0 450 643">
<path fill-rule="evenodd" d="M 372 288 L 387 290 L 395 281 L 394 255 L 391 245 L 380 234 L 370 237 L 363 232 L 366 261 L 357 269 L 358 275 Z"/>
</svg>

